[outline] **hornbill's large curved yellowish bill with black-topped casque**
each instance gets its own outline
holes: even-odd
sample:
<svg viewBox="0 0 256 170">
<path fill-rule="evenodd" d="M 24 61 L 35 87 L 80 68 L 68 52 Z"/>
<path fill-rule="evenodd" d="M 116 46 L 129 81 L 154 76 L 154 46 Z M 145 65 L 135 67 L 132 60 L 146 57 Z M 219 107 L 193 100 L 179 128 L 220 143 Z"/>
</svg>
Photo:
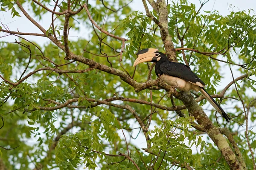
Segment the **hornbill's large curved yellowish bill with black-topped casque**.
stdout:
<svg viewBox="0 0 256 170">
<path fill-rule="evenodd" d="M 141 62 L 147 62 L 152 61 L 153 57 L 155 57 L 154 52 L 157 52 L 158 49 L 155 48 L 145 48 L 141 51 L 139 51 L 136 55 L 138 58 L 134 61 L 134 66 L 141 63 Z"/>
</svg>

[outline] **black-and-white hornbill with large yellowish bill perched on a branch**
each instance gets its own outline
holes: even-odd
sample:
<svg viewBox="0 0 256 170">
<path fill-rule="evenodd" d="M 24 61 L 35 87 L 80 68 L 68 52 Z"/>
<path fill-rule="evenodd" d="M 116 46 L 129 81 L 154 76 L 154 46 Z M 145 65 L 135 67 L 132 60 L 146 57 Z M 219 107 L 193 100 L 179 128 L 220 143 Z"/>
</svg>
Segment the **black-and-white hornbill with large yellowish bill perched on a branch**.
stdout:
<svg viewBox="0 0 256 170">
<path fill-rule="evenodd" d="M 190 70 L 189 66 L 169 61 L 165 54 L 155 48 L 143 49 L 136 55 L 138 58 L 135 60 L 134 66 L 141 62 L 155 62 L 155 73 L 157 77 L 180 91 L 200 91 L 216 111 L 218 111 L 227 122 L 230 121 L 230 116 L 225 113 L 221 106 L 207 93 L 204 89 L 204 82 Z"/>
</svg>

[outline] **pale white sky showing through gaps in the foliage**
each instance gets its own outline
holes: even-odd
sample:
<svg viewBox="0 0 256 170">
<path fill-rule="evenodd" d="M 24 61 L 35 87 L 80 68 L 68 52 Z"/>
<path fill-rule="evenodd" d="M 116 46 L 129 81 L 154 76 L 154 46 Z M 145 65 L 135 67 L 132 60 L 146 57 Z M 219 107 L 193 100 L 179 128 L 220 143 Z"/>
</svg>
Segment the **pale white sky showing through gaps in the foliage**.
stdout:
<svg viewBox="0 0 256 170">
<path fill-rule="evenodd" d="M 89 0 L 89 2 L 93 3 L 93 0 Z M 194 3 L 197 8 L 200 7 L 199 0 L 189 0 L 189 2 Z M 134 0 L 131 3 L 131 7 L 135 11 L 145 12 L 145 9 L 143 7 L 143 3 L 141 0 Z M 256 0 L 209 0 L 209 2 L 202 8 L 202 11 L 217 10 L 221 15 L 225 16 L 229 14 L 230 11 L 232 10 L 230 9 L 230 7 L 233 8 L 234 11 L 241 11 L 241 10 L 247 11 L 250 8 L 256 9 Z M 29 6 L 24 6 L 24 8 L 28 9 Z M 152 10 L 152 8 L 149 8 L 149 9 Z M 23 16 L 23 14 L 21 14 L 21 16 L 22 17 L 12 18 L 10 13 L 0 11 L 0 22 L 4 26 L 8 26 L 8 28 L 12 31 L 17 31 L 17 28 L 19 28 L 20 32 L 41 33 L 41 31 L 37 27 L 35 27 L 32 23 L 30 23 L 29 20 L 27 20 L 26 17 Z M 48 14 L 45 14 L 43 18 L 49 18 L 50 16 L 51 14 L 48 13 Z M 50 26 L 51 20 L 41 20 L 38 22 L 45 29 L 48 29 Z M 88 37 L 87 32 L 88 32 L 87 30 L 83 30 L 83 29 L 81 29 L 80 32 L 71 31 L 70 39 L 76 40 L 78 37 L 87 38 Z M 3 35 L 4 33 L 0 33 L 0 37 Z M 45 43 L 49 42 L 49 40 L 45 37 L 26 37 L 26 38 L 28 40 L 36 41 L 39 45 L 44 45 Z M 0 41 L 14 42 L 15 37 L 13 36 L 3 37 L 0 39 Z M 223 89 L 227 85 L 227 83 L 229 83 L 232 80 L 229 68 L 225 64 L 222 64 L 222 66 L 223 66 L 222 69 L 227 70 L 226 73 L 223 75 L 224 77 L 227 77 L 227 78 L 224 79 L 223 82 L 221 82 L 220 86 L 218 87 L 219 89 Z M 234 73 L 236 74 L 236 71 Z M 236 77 L 238 76 L 239 75 L 236 75 Z M 154 127 L 154 126 L 151 126 L 151 127 Z M 120 135 L 122 135 L 121 132 L 120 132 Z M 129 134 L 127 133 L 126 135 L 129 135 Z M 136 131 L 133 133 L 133 136 L 136 136 Z M 133 143 L 136 143 L 138 147 L 146 147 L 145 139 L 138 138 L 137 141 Z"/>
</svg>

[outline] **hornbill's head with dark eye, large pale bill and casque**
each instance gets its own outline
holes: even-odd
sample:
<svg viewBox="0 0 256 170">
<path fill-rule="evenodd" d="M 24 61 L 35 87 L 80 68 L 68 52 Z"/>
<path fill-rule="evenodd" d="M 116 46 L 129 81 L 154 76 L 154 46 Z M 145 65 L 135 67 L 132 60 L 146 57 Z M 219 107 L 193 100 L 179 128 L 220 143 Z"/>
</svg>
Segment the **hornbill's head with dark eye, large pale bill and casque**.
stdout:
<svg viewBox="0 0 256 170">
<path fill-rule="evenodd" d="M 155 48 L 146 48 L 139 51 L 137 54 L 138 58 L 134 61 L 134 66 L 141 62 L 157 62 L 161 58 L 167 58 L 165 54 L 158 51 Z"/>
</svg>

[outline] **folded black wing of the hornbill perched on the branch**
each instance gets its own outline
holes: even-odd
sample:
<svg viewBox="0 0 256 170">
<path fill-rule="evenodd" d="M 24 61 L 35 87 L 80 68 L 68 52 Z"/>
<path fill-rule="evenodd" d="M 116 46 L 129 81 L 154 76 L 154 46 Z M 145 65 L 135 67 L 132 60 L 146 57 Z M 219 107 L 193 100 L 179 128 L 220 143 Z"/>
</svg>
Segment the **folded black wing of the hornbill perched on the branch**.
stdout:
<svg viewBox="0 0 256 170">
<path fill-rule="evenodd" d="M 162 71 L 163 74 L 172 77 L 179 77 L 180 79 L 186 80 L 188 82 L 200 82 L 202 85 L 205 85 L 204 82 L 190 70 L 189 66 L 178 62 L 163 62 L 162 64 L 160 64 L 160 71 Z"/>
</svg>

